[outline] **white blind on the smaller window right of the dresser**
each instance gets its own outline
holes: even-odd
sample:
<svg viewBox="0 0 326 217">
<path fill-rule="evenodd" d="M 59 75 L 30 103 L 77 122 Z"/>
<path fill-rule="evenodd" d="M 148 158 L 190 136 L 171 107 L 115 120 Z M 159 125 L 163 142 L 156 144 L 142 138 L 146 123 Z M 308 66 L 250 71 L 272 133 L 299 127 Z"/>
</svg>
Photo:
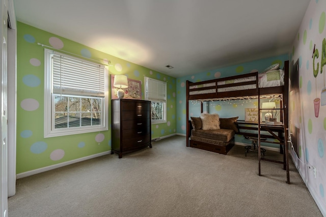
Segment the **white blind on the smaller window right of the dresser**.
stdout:
<svg viewBox="0 0 326 217">
<path fill-rule="evenodd" d="M 145 77 L 146 99 L 154 102 L 167 101 L 167 82 Z"/>
</svg>

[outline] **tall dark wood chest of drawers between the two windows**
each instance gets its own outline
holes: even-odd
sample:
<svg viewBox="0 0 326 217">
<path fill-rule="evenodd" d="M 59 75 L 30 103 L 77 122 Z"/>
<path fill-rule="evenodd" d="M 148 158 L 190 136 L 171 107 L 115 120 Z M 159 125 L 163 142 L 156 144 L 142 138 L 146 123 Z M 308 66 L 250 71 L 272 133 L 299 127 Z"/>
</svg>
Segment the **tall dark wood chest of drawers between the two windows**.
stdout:
<svg viewBox="0 0 326 217">
<path fill-rule="evenodd" d="M 112 150 L 122 154 L 151 144 L 151 102 L 146 100 L 112 100 Z"/>
</svg>

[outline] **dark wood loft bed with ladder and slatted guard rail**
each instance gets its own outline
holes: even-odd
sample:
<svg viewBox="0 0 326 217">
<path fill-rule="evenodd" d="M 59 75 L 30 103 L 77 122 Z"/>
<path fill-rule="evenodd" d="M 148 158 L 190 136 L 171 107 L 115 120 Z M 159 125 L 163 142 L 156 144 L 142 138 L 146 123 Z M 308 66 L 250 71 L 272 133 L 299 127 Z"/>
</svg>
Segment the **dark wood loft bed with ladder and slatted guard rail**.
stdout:
<svg viewBox="0 0 326 217">
<path fill-rule="evenodd" d="M 272 68 L 272 67 L 271 67 Z M 269 76 L 274 76 L 270 73 L 275 73 L 279 71 L 277 75 L 279 76 L 278 80 L 269 79 Z M 269 77 L 269 78 L 268 78 Z M 260 152 L 260 141 L 262 138 L 274 138 L 278 142 L 272 141 L 270 143 L 277 143 L 283 147 L 281 152 L 284 154 L 283 162 L 273 161 L 276 163 L 282 163 L 284 169 L 287 171 L 287 182 L 289 183 L 289 170 L 288 170 L 288 99 L 289 99 L 289 61 L 284 62 L 283 70 L 267 70 L 264 73 L 252 72 L 248 74 L 242 74 L 237 76 L 200 81 L 200 82 L 191 82 L 186 81 L 186 117 L 189 119 L 189 101 L 199 101 L 201 102 L 201 113 L 203 113 L 203 103 L 211 101 L 230 101 L 230 100 L 248 100 L 248 99 L 257 99 L 258 100 L 258 111 L 259 113 L 263 110 L 260 108 L 260 99 L 268 99 L 270 97 L 278 97 L 280 99 L 280 121 L 283 122 L 282 127 L 282 136 L 280 134 L 280 126 L 266 126 L 260 119 L 258 115 L 258 122 L 254 123 L 256 126 L 248 127 L 248 125 L 237 125 L 239 131 L 235 134 L 253 136 L 252 133 L 241 132 L 241 129 L 254 130 L 258 131 L 255 136 L 258 138 L 258 159 L 259 159 L 259 175 L 260 175 L 260 162 L 261 160 L 273 161 L 261 157 Z M 236 115 L 236 114 L 235 114 Z M 186 146 L 189 146 L 189 143 L 192 144 L 194 141 L 189 139 L 193 131 L 192 123 L 190 120 L 186 121 Z M 261 131 L 268 132 L 270 135 L 261 134 Z M 265 140 L 264 140 L 265 142 Z M 202 148 L 205 150 L 211 150 L 212 144 L 210 142 L 198 141 L 199 144 L 203 144 Z M 231 147 L 233 144 L 229 144 Z M 192 145 L 191 145 L 192 146 Z M 224 154 L 227 153 L 228 149 L 224 150 Z M 193 146 L 200 148 L 201 146 Z M 208 147 L 208 149 L 207 149 Z M 218 151 L 215 151 L 218 152 Z M 221 152 L 219 152 L 221 153 Z"/>
</svg>

